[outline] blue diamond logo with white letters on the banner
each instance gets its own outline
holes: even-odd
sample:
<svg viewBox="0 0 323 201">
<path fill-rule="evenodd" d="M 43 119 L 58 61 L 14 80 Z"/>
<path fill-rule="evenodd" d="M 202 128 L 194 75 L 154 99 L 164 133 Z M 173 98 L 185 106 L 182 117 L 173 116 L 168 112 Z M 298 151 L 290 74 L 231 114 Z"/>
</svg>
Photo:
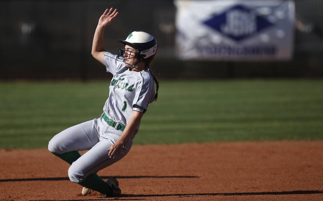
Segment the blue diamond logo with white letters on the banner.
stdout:
<svg viewBox="0 0 323 201">
<path fill-rule="evenodd" d="M 235 5 L 220 15 L 214 15 L 203 24 L 235 41 L 241 41 L 273 26 L 266 18 L 258 15 L 255 10 L 242 5 Z"/>
</svg>

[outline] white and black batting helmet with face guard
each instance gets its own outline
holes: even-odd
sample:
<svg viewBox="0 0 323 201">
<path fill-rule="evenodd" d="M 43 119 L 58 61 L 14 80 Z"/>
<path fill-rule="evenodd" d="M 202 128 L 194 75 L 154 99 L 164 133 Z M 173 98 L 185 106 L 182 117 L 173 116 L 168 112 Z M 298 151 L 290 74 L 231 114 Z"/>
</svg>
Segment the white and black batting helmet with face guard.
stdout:
<svg viewBox="0 0 323 201">
<path fill-rule="evenodd" d="M 120 43 L 123 43 L 124 45 L 136 47 L 136 58 L 138 58 L 139 60 L 154 57 L 157 52 L 156 38 L 144 31 L 133 31 L 128 35 L 128 37 L 125 40 L 119 39 L 118 41 Z M 119 56 L 121 56 L 121 53 L 122 49 L 119 49 Z"/>
</svg>

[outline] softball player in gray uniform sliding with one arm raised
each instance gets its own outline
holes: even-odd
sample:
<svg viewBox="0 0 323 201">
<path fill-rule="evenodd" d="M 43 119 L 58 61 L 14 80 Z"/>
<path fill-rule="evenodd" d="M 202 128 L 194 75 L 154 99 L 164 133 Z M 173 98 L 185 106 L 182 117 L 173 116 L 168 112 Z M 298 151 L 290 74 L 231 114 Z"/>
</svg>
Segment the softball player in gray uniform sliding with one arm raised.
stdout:
<svg viewBox="0 0 323 201">
<path fill-rule="evenodd" d="M 121 194 L 114 177 L 105 182 L 96 173 L 129 152 L 141 117 L 158 96 L 158 81 L 148 68 L 157 51 L 153 36 L 134 31 L 125 40 L 118 40 L 125 45 L 119 48 L 118 55 L 104 50 L 104 29 L 118 15 L 117 9 L 112 10 L 107 9 L 99 18 L 92 45 L 93 57 L 113 74 L 103 114 L 58 133 L 48 144 L 49 151 L 71 164 L 68 176 L 72 182 L 84 186 L 83 195 L 90 189 L 106 196 Z M 78 151 L 82 150 L 89 151 L 81 156 Z"/>
</svg>

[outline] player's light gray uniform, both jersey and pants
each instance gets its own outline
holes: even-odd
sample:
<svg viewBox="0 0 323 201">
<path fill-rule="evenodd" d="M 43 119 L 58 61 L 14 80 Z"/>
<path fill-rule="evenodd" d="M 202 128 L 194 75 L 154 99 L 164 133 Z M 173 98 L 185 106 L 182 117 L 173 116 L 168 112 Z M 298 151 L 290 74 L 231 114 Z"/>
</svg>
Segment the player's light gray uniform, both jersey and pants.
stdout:
<svg viewBox="0 0 323 201">
<path fill-rule="evenodd" d="M 129 122 L 132 111 L 145 112 L 155 96 L 151 73 L 133 72 L 117 55 L 106 52 L 103 58 L 107 71 L 113 74 L 109 86 L 109 98 L 103 111 L 109 118 L 123 125 Z M 137 127 L 139 129 L 139 125 Z M 109 158 L 107 149 L 120 138 L 121 130 L 110 126 L 102 117 L 72 126 L 55 135 L 48 143 L 49 151 L 57 154 L 89 150 L 68 169 L 71 181 L 80 183 L 90 174 L 119 161 L 130 150 L 137 131 L 123 145 L 117 158 Z"/>
</svg>

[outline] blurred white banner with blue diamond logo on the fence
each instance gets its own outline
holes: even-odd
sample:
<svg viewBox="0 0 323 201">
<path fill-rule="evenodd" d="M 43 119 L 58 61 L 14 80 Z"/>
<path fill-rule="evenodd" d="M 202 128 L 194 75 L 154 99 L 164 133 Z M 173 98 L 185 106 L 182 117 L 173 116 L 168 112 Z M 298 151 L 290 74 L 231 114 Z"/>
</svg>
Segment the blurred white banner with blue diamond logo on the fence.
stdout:
<svg viewBox="0 0 323 201">
<path fill-rule="evenodd" d="M 292 0 L 175 0 L 176 53 L 183 60 L 288 60 Z"/>
</svg>

